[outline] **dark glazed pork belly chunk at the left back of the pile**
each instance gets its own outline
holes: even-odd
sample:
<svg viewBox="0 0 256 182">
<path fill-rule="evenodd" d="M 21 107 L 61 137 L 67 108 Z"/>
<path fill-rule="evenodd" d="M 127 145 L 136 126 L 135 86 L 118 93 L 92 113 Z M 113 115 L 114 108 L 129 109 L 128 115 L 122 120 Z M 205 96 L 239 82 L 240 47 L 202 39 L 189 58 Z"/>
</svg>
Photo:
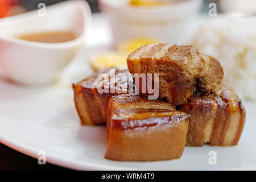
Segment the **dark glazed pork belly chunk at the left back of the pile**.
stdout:
<svg viewBox="0 0 256 182">
<path fill-rule="evenodd" d="M 113 87 L 112 85 L 110 85 L 111 69 L 113 71 L 112 73 L 115 74 L 115 77 L 118 76 L 118 73 L 123 73 L 125 75 L 129 74 L 129 71 L 127 69 L 124 71 L 119 71 L 116 68 L 102 69 L 101 71 L 96 72 L 93 76 L 82 80 L 78 84 L 73 84 L 75 105 L 82 125 L 98 125 L 106 122 L 106 109 L 108 107 L 110 96 L 119 93 L 116 92 L 116 89 L 119 89 L 121 93 L 126 93 L 127 89 L 129 89 L 129 85 L 127 84 L 128 82 L 126 80 L 123 83 L 119 82 L 118 88 L 115 88 L 117 84 L 117 82 L 115 82 L 115 85 L 113 85 L 115 92 L 110 92 L 110 88 Z M 108 92 L 98 92 L 97 88 L 99 86 L 99 83 L 97 78 L 98 75 L 100 75 L 101 73 L 108 75 Z M 116 79 L 115 81 L 118 81 L 118 79 Z"/>
</svg>

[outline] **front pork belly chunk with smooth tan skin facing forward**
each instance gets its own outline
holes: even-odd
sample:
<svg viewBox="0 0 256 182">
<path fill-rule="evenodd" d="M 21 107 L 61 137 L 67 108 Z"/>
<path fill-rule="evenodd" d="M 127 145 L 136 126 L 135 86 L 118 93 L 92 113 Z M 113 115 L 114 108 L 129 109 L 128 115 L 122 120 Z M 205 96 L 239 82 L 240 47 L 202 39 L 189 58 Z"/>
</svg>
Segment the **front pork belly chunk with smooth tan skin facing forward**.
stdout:
<svg viewBox="0 0 256 182">
<path fill-rule="evenodd" d="M 170 160 L 183 153 L 189 115 L 167 101 L 135 94 L 112 96 L 108 105 L 108 149 L 113 160 Z"/>
</svg>

